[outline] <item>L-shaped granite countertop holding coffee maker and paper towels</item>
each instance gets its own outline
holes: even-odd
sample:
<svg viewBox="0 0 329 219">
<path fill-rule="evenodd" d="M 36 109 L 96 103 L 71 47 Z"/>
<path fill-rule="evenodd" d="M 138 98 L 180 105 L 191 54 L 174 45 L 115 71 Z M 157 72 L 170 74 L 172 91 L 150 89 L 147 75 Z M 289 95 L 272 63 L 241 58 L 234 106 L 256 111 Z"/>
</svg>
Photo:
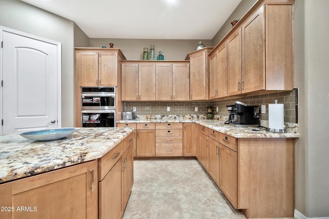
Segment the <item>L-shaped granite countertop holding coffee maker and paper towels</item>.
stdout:
<svg viewBox="0 0 329 219">
<path fill-rule="evenodd" d="M 258 126 L 234 126 L 224 124 L 222 120 L 206 120 L 190 115 L 182 116 L 154 116 L 139 117 L 135 120 L 120 120 L 118 123 L 196 123 L 210 129 L 225 133 L 236 138 L 272 138 L 272 137 L 299 137 L 298 124 L 286 124 L 286 133 L 273 133 L 266 131 L 264 127 Z M 255 131 L 259 130 L 259 131 Z"/>
</svg>

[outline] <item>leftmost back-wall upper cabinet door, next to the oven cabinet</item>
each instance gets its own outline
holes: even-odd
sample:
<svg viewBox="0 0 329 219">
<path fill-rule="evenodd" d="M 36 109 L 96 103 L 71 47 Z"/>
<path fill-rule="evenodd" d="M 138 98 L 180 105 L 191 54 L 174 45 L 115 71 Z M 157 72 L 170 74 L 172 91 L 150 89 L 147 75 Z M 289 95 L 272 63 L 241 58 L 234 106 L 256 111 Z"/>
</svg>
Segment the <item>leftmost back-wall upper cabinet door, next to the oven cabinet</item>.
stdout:
<svg viewBox="0 0 329 219">
<path fill-rule="evenodd" d="M 121 65 L 121 99 L 138 101 L 138 64 Z"/>
</svg>

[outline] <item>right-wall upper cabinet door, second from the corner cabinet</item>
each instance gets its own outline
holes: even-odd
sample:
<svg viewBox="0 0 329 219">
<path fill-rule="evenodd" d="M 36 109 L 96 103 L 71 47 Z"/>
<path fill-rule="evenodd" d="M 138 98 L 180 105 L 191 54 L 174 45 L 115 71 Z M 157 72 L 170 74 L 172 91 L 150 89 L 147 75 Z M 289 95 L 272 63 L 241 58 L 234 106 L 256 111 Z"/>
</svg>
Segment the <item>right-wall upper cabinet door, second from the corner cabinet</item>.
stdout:
<svg viewBox="0 0 329 219">
<path fill-rule="evenodd" d="M 224 42 L 217 50 L 217 97 L 227 96 L 227 46 Z"/>
</svg>

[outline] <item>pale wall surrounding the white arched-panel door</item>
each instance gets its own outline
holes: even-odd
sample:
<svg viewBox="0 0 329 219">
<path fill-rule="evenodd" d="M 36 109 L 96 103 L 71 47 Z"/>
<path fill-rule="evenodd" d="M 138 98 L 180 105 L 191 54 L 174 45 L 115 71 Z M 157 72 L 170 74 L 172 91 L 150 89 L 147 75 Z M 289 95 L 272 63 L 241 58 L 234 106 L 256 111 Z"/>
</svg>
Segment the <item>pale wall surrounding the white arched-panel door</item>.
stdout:
<svg viewBox="0 0 329 219">
<path fill-rule="evenodd" d="M 0 0 L 0 26 L 62 44 L 62 126 L 74 126 L 74 23 L 19 0 Z"/>
</svg>

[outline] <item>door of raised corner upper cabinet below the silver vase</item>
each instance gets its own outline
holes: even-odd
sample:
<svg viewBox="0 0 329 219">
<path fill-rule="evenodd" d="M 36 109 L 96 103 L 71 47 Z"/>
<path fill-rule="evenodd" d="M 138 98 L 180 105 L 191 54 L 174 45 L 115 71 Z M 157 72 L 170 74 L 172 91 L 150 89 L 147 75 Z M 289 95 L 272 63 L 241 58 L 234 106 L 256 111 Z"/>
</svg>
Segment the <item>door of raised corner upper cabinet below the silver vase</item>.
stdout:
<svg viewBox="0 0 329 219">
<path fill-rule="evenodd" d="M 206 99 L 206 52 L 190 58 L 190 100 Z"/>
</svg>

